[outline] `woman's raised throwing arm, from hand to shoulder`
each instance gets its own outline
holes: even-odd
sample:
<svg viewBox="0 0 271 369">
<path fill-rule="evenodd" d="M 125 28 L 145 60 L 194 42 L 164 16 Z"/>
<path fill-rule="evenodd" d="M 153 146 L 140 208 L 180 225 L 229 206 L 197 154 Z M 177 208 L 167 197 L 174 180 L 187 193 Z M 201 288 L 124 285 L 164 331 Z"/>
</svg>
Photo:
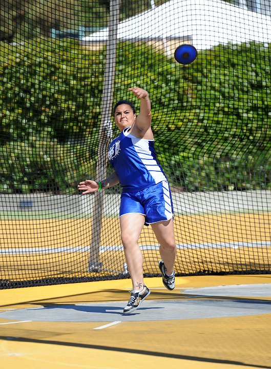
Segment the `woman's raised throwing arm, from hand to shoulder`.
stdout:
<svg viewBox="0 0 271 369">
<path fill-rule="evenodd" d="M 140 132 L 140 135 L 142 137 L 144 136 L 145 133 L 148 132 L 148 130 L 150 130 L 148 134 L 152 135 L 151 132 L 152 112 L 151 112 L 151 101 L 148 91 L 145 91 L 140 87 L 130 88 L 129 91 L 132 91 L 134 95 L 138 99 L 140 99 L 140 112 L 136 117 L 134 128 L 136 128 Z"/>
</svg>

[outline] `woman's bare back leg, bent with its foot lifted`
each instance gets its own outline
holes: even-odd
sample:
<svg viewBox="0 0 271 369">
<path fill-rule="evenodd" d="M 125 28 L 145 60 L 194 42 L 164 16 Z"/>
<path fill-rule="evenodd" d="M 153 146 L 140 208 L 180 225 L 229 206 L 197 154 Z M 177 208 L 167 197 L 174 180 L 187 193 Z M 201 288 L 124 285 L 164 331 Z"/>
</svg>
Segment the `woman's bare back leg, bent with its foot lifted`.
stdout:
<svg viewBox="0 0 271 369">
<path fill-rule="evenodd" d="M 166 268 L 166 274 L 171 275 L 176 257 L 173 220 L 160 221 L 151 224 L 151 226 L 157 241 L 160 243 L 160 255 Z"/>
</svg>

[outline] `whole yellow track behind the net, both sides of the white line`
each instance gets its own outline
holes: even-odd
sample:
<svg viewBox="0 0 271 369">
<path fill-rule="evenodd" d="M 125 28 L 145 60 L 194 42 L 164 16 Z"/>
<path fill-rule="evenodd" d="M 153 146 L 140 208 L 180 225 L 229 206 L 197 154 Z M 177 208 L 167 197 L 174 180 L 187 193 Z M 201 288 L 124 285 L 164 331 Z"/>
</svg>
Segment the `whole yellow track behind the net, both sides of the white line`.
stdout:
<svg viewBox="0 0 271 369">
<path fill-rule="evenodd" d="M 187 274 L 199 270 L 219 271 L 221 264 L 225 271 L 240 268 L 266 270 L 271 260 L 271 248 L 264 244 L 271 239 L 270 223 L 268 213 L 176 216 L 174 227 L 177 244 L 262 242 L 261 246 L 255 247 L 180 249 L 176 270 L 181 268 Z M 72 245 L 80 249 L 91 245 L 90 229 L 90 219 L 0 220 L 1 250 L 11 249 L 10 253 L 0 255 L 0 279 L 89 276 L 89 251 L 62 252 L 57 248 L 69 249 Z M 100 244 L 112 245 L 113 249 L 101 252 L 100 261 L 109 271 L 123 271 L 124 254 L 122 250 L 114 249 L 114 246 L 121 244 L 118 218 L 104 218 L 101 231 Z M 143 228 L 139 243 L 143 246 L 157 243 L 151 227 Z M 33 248 L 36 251 L 32 254 L 19 251 Z M 42 249 L 49 252 L 43 253 Z M 159 273 L 158 254 L 158 250 L 144 251 L 145 273 Z"/>
</svg>

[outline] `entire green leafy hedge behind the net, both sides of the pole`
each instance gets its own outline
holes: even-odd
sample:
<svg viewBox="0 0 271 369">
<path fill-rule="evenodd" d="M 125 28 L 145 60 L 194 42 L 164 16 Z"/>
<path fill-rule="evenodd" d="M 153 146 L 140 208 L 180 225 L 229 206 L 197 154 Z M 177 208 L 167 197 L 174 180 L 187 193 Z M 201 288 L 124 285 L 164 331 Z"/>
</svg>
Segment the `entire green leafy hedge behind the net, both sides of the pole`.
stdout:
<svg viewBox="0 0 271 369">
<path fill-rule="evenodd" d="M 95 177 L 105 49 L 74 40 L 2 44 L 0 192 L 77 192 Z M 118 46 L 114 99 L 148 89 L 159 160 L 187 191 L 270 189 L 270 47 L 218 46 L 182 66 Z M 117 134 L 117 132 L 114 132 Z"/>
</svg>

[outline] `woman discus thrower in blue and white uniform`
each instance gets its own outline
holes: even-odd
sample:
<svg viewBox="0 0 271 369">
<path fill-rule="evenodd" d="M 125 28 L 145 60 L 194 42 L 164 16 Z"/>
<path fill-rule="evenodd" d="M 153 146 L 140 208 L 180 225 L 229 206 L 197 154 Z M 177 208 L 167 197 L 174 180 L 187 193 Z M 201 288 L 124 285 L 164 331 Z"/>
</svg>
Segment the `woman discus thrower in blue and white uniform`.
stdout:
<svg viewBox="0 0 271 369">
<path fill-rule="evenodd" d="M 168 180 L 154 150 L 151 129 L 151 101 L 147 91 L 135 87 L 130 91 L 140 99 L 136 116 L 133 104 L 120 100 L 113 113 L 120 135 L 110 146 L 108 158 L 115 172 L 99 182 L 87 179 L 78 185 L 82 194 L 107 189 L 117 183 L 122 187 L 120 199 L 121 241 L 133 283 L 133 290 L 123 313 L 135 311 L 150 294 L 143 281 L 143 257 L 138 239 L 144 224 L 150 224 L 160 244 L 159 269 L 163 284 L 175 288 L 174 261 L 176 244 L 173 228 L 173 206 Z"/>
</svg>

